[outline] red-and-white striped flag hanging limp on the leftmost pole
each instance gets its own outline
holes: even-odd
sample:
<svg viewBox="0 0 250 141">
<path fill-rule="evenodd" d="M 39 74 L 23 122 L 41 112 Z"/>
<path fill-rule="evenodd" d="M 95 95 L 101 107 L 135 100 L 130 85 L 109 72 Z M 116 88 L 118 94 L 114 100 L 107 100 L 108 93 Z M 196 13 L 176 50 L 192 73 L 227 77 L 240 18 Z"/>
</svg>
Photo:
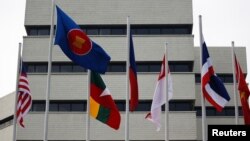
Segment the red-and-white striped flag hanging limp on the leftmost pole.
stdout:
<svg viewBox="0 0 250 141">
<path fill-rule="evenodd" d="M 29 112 L 32 105 L 32 98 L 29 88 L 29 81 L 25 71 L 24 63 L 22 63 L 22 70 L 19 75 L 18 82 L 18 99 L 17 99 L 17 121 L 20 126 L 24 128 L 24 116 Z"/>
</svg>

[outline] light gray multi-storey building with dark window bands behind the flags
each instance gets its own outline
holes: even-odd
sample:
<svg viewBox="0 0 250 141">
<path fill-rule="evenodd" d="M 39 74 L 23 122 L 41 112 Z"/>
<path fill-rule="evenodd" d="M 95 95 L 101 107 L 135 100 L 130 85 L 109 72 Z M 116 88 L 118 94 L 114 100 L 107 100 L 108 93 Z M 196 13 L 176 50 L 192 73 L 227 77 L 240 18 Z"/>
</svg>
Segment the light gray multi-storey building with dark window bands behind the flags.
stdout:
<svg viewBox="0 0 250 141">
<path fill-rule="evenodd" d="M 91 140 L 124 140 L 128 15 L 131 17 L 131 32 L 134 35 L 140 93 L 140 104 L 129 116 L 129 139 L 164 140 L 164 126 L 161 131 L 156 132 L 155 126 L 147 121 L 145 116 L 150 111 L 164 54 L 164 44 L 168 42 L 169 66 L 174 89 L 173 100 L 169 105 L 170 140 L 201 140 L 200 49 L 194 47 L 194 35 L 192 35 L 192 0 L 55 0 L 55 2 L 111 56 L 108 70 L 102 77 L 120 110 L 121 126 L 116 131 L 91 118 Z M 33 105 L 24 119 L 26 128 L 17 126 L 19 141 L 43 140 L 50 11 L 50 0 L 26 0 L 24 25 L 27 36 L 23 37 L 23 60 L 28 64 Z M 236 47 L 235 51 L 246 73 L 246 49 Z M 216 112 L 206 103 L 207 123 L 232 124 L 234 99 L 231 48 L 209 47 L 209 53 L 215 71 L 224 81 L 231 101 L 222 113 Z M 48 139 L 85 140 L 86 70 L 72 63 L 58 46 L 53 47 L 52 60 Z M 14 93 L 0 99 L 1 141 L 12 139 L 13 110 Z M 242 122 L 240 117 L 240 123 Z M 162 124 L 164 125 L 164 111 Z"/>
</svg>

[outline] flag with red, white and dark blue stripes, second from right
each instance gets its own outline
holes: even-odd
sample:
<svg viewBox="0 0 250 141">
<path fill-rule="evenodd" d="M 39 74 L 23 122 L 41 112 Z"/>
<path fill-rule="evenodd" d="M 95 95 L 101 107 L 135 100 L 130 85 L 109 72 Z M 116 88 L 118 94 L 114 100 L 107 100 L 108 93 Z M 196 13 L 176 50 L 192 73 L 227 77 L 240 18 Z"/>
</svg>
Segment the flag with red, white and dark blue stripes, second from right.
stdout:
<svg viewBox="0 0 250 141">
<path fill-rule="evenodd" d="M 228 92 L 215 74 L 211 58 L 208 53 L 206 43 L 202 36 L 202 92 L 204 97 L 210 102 L 217 111 L 222 111 L 226 103 L 230 100 Z"/>
</svg>

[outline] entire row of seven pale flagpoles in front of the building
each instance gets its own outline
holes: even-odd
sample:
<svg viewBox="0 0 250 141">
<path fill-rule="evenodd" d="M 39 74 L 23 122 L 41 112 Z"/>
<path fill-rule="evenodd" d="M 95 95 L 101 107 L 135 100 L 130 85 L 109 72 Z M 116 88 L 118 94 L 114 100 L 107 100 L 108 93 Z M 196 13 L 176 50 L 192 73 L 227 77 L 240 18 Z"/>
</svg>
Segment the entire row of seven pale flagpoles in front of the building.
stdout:
<svg viewBox="0 0 250 141">
<path fill-rule="evenodd" d="M 48 112 L 49 112 L 49 99 L 50 99 L 50 86 L 51 86 L 51 65 L 52 65 L 52 46 L 53 46 L 53 34 L 54 34 L 54 10 L 55 3 L 54 0 L 51 1 L 51 26 L 50 26 L 50 42 L 49 42 L 49 55 L 48 55 L 48 74 L 47 74 L 47 88 L 46 88 L 46 108 L 45 108 L 45 118 L 44 118 L 44 141 L 48 140 Z M 199 16 L 199 27 L 200 27 L 200 46 L 201 46 L 201 55 L 202 56 L 202 17 Z M 125 141 L 129 141 L 129 49 L 130 49 L 130 22 L 129 17 L 127 18 L 127 60 L 126 60 L 126 114 L 125 114 Z M 232 63 L 233 63 L 233 82 L 234 82 L 234 104 L 235 104 L 235 124 L 239 123 L 238 119 L 238 99 L 236 94 L 236 76 L 234 70 L 234 42 L 232 42 Z M 20 66 L 20 58 L 21 58 L 21 44 L 19 44 L 18 51 L 18 67 L 17 74 L 19 74 L 19 66 Z M 165 75 L 166 75 L 166 103 L 165 103 L 165 141 L 169 140 L 169 104 L 168 104 L 168 47 L 167 43 L 165 44 Z M 202 58 L 200 58 L 200 67 L 202 70 Z M 86 111 L 86 141 L 89 141 L 90 138 L 90 105 L 89 105 L 89 94 L 90 94 L 90 71 L 87 73 L 87 111 Z M 16 85 L 16 96 L 15 96 L 15 112 L 17 110 L 17 95 L 18 95 L 18 77 L 17 75 L 17 85 Z M 205 98 L 202 92 L 202 80 L 201 80 L 201 104 L 202 104 L 202 140 L 205 141 L 207 139 L 206 135 L 206 107 L 205 107 Z M 16 141 L 16 113 L 14 114 L 14 122 L 13 122 L 13 141 Z"/>
</svg>

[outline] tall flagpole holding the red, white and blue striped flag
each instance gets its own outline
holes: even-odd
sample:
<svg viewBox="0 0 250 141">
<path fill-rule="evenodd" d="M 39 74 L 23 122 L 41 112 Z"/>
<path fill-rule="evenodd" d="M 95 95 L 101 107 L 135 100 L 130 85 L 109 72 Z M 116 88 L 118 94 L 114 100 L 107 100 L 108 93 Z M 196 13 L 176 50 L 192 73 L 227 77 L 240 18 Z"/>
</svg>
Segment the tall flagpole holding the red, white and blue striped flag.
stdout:
<svg viewBox="0 0 250 141">
<path fill-rule="evenodd" d="M 203 44 L 203 35 L 202 35 L 202 17 L 199 15 L 199 25 L 200 25 L 200 70 L 202 71 L 202 44 Z M 202 75 L 202 73 L 201 73 Z M 202 108 L 202 141 L 206 141 L 206 107 L 205 107 L 205 98 L 202 92 L 202 76 L 201 76 L 201 108 Z"/>
</svg>

